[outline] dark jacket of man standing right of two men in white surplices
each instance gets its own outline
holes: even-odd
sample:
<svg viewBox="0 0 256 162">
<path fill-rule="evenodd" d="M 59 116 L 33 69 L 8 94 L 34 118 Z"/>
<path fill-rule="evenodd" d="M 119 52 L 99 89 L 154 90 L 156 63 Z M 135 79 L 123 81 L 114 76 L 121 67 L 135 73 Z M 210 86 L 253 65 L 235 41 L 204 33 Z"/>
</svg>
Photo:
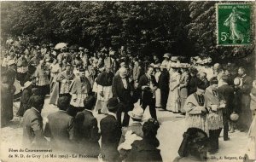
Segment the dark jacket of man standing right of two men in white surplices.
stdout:
<svg viewBox="0 0 256 162">
<path fill-rule="evenodd" d="M 224 100 L 226 101 L 226 107 L 223 109 L 223 112 L 230 116 L 233 113 L 234 107 L 234 89 L 229 84 L 224 84 L 218 87 L 218 92 L 224 96 Z"/>
</svg>

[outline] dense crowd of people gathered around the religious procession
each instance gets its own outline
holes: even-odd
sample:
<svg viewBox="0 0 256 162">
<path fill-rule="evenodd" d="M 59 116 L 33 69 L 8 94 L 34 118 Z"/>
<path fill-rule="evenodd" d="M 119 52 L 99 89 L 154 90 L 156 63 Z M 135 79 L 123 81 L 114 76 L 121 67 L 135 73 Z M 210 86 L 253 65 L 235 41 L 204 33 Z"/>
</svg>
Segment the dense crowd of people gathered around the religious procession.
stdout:
<svg viewBox="0 0 256 162">
<path fill-rule="evenodd" d="M 162 160 L 156 108 L 184 115 L 187 135 L 208 138 L 207 151 L 213 154 L 222 129 L 228 141 L 235 130 L 248 131 L 256 113 L 256 81 L 233 63 L 206 70 L 170 53 L 151 58 L 112 48 L 92 52 L 9 43 L 1 68 L 1 127 L 14 118 L 13 101 L 20 97 L 15 115 L 23 117 L 26 147 L 43 147 L 47 137 L 51 148 L 105 161 Z M 45 97 L 60 110 L 49 114 L 43 129 Z M 143 122 L 146 107 L 152 118 Z M 106 117 L 98 125 L 93 113 Z M 199 156 L 184 147 L 187 142 L 180 156 Z"/>
</svg>

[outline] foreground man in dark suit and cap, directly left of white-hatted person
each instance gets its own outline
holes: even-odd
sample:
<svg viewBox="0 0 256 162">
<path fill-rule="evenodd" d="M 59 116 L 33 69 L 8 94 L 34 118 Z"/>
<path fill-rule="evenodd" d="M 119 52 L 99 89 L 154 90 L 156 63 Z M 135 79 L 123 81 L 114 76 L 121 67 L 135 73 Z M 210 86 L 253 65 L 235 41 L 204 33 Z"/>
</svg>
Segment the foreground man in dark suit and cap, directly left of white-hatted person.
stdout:
<svg viewBox="0 0 256 162">
<path fill-rule="evenodd" d="M 102 158 L 106 161 L 119 161 L 119 146 L 120 136 L 122 134 L 121 126 L 116 119 L 116 113 L 119 108 L 119 101 L 117 98 L 110 98 L 108 100 L 108 115 L 101 120 L 102 130 Z"/>
</svg>

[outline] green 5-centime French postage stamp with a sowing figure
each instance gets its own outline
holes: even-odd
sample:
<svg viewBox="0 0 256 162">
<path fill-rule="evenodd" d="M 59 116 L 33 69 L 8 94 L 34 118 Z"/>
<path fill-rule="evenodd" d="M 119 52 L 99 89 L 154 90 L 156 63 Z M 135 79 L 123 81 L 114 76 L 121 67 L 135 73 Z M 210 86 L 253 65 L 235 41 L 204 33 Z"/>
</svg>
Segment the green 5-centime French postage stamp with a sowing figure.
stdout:
<svg viewBox="0 0 256 162">
<path fill-rule="evenodd" d="M 251 44 L 252 12 L 252 3 L 218 3 L 216 5 L 217 44 Z"/>
</svg>

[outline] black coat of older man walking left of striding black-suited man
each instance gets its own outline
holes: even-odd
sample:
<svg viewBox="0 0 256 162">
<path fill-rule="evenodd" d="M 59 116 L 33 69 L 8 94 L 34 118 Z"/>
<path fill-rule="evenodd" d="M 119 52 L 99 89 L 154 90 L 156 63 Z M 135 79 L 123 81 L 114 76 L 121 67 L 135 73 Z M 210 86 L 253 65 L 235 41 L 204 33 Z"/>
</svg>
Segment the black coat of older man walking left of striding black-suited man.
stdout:
<svg viewBox="0 0 256 162">
<path fill-rule="evenodd" d="M 128 78 L 125 78 L 127 83 L 127 89 L 125 89 L 122 78 L 120 75 L 113 77 L 112 92 L 113 97 L 118 97 L 119 101 L 125 104 L 132 104 L 131 102 L 131 90 L 132 86 L 129 84 Z"/>
</svg>

